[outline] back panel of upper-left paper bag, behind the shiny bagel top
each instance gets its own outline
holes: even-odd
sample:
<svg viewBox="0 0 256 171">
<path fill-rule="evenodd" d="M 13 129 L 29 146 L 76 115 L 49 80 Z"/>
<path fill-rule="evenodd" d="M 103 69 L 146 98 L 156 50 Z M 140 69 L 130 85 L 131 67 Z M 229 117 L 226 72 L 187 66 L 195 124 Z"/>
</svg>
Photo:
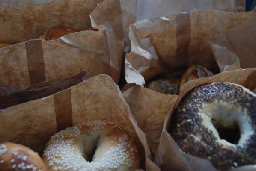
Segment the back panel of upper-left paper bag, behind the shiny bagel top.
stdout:
<svg viewBox="0 0 256 171">
<path fill-rule="evenodd" d="M 54 26 L 85 30 L 91 27 L 89 14 L 103 0 L 34 0 L 1 4 L 0 42 L 19 43 L 38 38 Z M 47 3 L 48 2 L 48 3 Z"/>
</svg>

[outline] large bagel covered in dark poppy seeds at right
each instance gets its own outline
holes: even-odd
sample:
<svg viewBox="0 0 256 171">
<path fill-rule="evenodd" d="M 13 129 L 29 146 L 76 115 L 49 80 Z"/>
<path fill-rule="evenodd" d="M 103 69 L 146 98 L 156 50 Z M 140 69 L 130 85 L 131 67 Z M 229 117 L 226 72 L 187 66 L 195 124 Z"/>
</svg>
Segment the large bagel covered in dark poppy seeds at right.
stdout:
<svg viewBox="0 0 256 171">
<path fill-rule="evenodd" d="M 182 98 L 169 133 L 220 170 L 256 164 L 256 94 L 233 83 L 200 85 Z"/>
</svg>

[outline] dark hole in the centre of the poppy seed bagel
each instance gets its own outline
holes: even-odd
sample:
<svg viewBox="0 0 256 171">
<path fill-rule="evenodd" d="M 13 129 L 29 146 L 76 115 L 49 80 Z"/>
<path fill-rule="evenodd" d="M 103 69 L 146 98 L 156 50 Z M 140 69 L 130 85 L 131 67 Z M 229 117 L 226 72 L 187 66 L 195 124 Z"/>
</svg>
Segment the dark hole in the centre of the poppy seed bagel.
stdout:
<svg viewBox="0 0 256 171">
<path fill-rule="evenodd" d="M 211 119 L 211 122 L 219 133 L 220 139 L 224 139 L 232 144 L 238 144 L 240 139 L 240 129 L 237 123 L 224 126 L 215 119 Z"/>
</svg>

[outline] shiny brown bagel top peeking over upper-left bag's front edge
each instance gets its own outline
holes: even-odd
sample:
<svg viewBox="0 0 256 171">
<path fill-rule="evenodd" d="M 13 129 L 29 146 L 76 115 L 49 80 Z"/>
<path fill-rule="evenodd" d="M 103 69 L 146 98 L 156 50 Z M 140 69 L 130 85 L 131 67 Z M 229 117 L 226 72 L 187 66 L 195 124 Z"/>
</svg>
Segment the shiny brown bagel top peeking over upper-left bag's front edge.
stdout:
<svg viewBox="0 0 256 171">
<path fill-rule="evenodd" d="M 52 27 L 48 30 L 48 32 L 45 35 L 45 40 L 54 40 L 58 39 L 64 35 L 68 35 L 74 32 L 79 32 L 77 29 L 71 28 L 71 27 Z"/>
</svg>

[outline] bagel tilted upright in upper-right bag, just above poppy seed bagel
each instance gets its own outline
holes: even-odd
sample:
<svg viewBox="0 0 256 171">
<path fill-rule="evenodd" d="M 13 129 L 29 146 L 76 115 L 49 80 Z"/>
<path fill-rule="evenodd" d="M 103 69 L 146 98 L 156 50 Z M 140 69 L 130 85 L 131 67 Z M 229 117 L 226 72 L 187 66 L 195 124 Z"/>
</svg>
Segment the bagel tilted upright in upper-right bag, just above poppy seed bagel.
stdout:
<svg viewBox="0 0 256 171">
<path fill-rule="evenodd" d="M 200 65 L 191 65 L 186 69 L 186 71 L 183 73 L 182 78 L 179 83 L 178 92 L 181 91 L 182 86 L 185 83 L 188 83 L 191 80 L 204 78 L 204 77 L 212 77 L 214 74 L 209 71 L 207 68 L 200 66 Z"/>
</svg>

